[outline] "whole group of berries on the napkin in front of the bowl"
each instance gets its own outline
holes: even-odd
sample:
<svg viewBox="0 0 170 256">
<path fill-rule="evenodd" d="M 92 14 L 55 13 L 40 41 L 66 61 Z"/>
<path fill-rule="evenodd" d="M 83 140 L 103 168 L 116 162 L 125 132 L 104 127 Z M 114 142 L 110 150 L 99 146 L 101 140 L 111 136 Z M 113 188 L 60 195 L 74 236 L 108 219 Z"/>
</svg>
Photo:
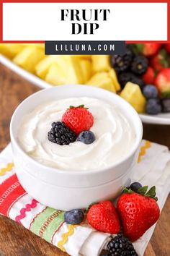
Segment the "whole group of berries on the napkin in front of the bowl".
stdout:
<svg viewBox="0 0 170 256">
<path fill-rule="evenodd" d="M 148 189 L 139 182 L 133 182 L 122 189 L 117 200 L 93 203 L 86 210 L 74 209 L 64 214 L 68 224 L 79 224 L 87 220 L 98 231 L 115 234 L 107 243 L 101 256 L 138 256 L 132 242 L 138 240 L 158 220 L 160 210 L 157 204 L 156 187 Z"/>
</svg>

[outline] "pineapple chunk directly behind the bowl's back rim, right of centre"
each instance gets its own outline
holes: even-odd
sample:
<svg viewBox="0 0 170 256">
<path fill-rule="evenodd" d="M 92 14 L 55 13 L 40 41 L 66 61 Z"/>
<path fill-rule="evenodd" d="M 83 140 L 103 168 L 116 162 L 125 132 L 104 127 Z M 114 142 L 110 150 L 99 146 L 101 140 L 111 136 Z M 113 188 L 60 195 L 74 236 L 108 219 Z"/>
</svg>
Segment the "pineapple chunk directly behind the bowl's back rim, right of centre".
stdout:
<svg viewBox="0 0 170 256">
<path fill-rule="evenodd" d="M 112 83 L 111 78 L 107 72 L 99 72 L 94 74 L 93 77 L 86 83 L 86 85 L 93 85 L 105 90 L 109 90 L 112 93 L 116 93 L 115 86 Z"/>
</svg>

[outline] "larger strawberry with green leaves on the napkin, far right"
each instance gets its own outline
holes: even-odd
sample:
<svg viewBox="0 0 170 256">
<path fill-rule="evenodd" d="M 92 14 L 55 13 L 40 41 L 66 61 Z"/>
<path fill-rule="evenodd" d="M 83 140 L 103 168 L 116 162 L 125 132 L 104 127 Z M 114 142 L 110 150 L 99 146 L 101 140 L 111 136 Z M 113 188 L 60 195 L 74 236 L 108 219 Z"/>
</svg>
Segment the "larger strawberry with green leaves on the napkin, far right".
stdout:
<svg viewBox="0 0 170 256">
<path fill-rule="evenodd" d="M 160 210 L 156 202 L 156 187 L 140 187 L 138 193 L 125 189 L 117 201 L 123 233 L 131 242 L 139 239 L 158 220 Z M 152 198 L 151 198 L 152 197 Z"/>
</svg>

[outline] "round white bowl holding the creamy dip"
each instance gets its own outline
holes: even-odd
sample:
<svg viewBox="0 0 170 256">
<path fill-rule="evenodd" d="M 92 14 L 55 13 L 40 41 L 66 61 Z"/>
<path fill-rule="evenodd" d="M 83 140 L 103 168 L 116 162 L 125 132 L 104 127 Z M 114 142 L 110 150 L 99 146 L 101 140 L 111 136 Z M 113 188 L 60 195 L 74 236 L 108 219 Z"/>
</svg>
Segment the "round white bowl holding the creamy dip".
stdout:
<svg viewBox="0 0 170 256">
<path fill-rule="evenodd" d="M 114 102 L 133 124 L 135 143 L 122 161 L 99 170 L 63 171 L 43 166 L 24 153 L 17 141 L 24 115 L 45 101 L 84 96 Z M 114 198 L 121 187 L 130 182 L 130 171 L 138 159 L 143 127 L 134 108 L 118 95 L 86 85 L 62 85 L 40 90 L 24 100 L 14 111 L 10 135 L 16 173 L 24 189 L 44 205 L 71 210 L 86 208 L 92 202 Z"/>
</svg>

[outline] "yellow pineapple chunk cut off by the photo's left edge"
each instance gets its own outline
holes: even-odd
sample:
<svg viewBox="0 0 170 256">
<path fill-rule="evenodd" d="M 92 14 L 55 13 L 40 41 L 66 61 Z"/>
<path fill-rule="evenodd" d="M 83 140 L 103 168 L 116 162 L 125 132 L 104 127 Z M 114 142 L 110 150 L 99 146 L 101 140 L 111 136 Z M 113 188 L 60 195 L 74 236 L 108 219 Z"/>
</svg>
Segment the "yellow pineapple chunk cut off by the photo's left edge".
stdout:
<svg viewBox="0 0 170 256">
<path fill-rule="evenodd" d="M 9 59 L 14 58 L 23 48 L 24 46 L 21 43 L 0 43 L 0 53 Z"/>
</svg>

